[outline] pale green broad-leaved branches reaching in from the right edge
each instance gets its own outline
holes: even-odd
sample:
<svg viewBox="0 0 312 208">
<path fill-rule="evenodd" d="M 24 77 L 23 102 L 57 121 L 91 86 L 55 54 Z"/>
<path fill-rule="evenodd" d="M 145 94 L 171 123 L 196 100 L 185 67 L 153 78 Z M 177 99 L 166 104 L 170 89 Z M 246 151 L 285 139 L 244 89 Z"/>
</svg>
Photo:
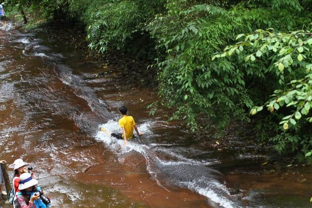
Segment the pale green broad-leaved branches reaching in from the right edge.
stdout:
<svg viewBox="0 0 312 208">
<path fill-rule="evenodd" d="M 281 130 L 282 133 L 269 141 L 275 144 L 274 148 L 278 152 L 301 149 L 310 156 L 307 148 L 312 148 L 312 134 L 307 127 L 312 122 L 312 33 L 256 30 L 251 34 L 240 34 L 236 39 L 242 41 L 226 47 L 222 54 L 215 55 L 213 59 L 235 54 L 238 59 L 244 57 L 245 62 L 267 62 L 268 67 L 257 70 L 264 70 L 265 74 L 275 76 L 280 89 L 275 90 L 264 105 L 255 106 L 250 113 L 258 113 L 264 106 L 271 113 L 282 111 L 279 124 L 284 131 Z M 307 134 L 302 135 L 304 132 Z"/>
</svg>

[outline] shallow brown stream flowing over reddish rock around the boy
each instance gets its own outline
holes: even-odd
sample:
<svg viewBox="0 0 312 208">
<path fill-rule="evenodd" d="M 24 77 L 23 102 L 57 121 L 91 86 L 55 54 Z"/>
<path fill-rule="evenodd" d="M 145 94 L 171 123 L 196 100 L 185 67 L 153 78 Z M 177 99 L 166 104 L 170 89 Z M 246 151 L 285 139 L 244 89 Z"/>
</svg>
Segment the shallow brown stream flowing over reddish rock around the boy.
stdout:
<svg viewBox="0 0 312 208">
<path fill-rule="evenodd" d="M 53 207 L 311 206 L 311 167 L 265 172 L 263 155 L 202 145 L 168 112 L 149 116 L 151 89 L 96 76 L 96 60 L 44 30 L 0 28 L 0 159 L 30 163 Z M 122 104 L 145 132 L 126 147 L 98 131 L 119 130 Z"/>
</svg>

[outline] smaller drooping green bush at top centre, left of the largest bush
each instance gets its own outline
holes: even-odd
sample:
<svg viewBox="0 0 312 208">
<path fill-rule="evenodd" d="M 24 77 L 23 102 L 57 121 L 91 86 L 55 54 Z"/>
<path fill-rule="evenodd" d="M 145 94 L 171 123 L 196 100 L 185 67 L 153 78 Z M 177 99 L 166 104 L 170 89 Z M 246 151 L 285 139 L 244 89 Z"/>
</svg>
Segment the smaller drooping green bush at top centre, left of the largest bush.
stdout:
<svg viewBox="0 0 312 208">
<path fill-rule="evenodd" d="M 88 25 L 89 47 L 97 49 L 99 53 L 109 48 L 123 48 L 126 40 L 140 31 L 141 24 L 152 18 L 161 7 L 162 1 L 159 0 L 94 1 L 84 16 Z"/>
</svg>

